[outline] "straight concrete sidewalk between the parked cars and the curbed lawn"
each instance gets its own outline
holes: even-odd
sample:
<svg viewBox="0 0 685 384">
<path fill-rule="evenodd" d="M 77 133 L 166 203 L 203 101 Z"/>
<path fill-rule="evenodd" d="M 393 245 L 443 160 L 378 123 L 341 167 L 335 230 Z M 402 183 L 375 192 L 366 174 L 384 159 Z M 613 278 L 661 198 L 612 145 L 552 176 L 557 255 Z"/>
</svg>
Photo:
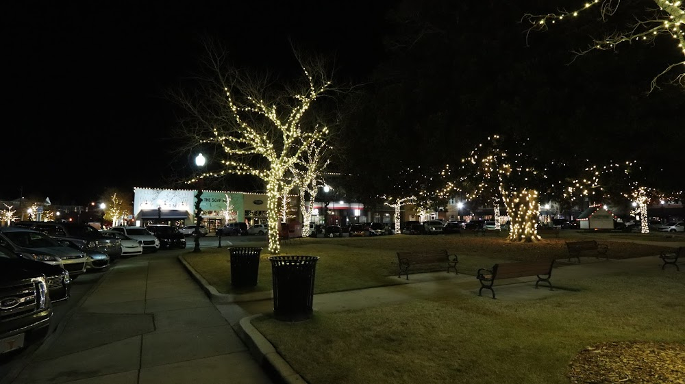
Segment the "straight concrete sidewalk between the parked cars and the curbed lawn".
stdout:
<svg viewBox="0 0 685 384">
<path fill-rule="evenodd" d="M 177 255 L 119 261 L 12 383 L 271 383 Z"/>
</svg>

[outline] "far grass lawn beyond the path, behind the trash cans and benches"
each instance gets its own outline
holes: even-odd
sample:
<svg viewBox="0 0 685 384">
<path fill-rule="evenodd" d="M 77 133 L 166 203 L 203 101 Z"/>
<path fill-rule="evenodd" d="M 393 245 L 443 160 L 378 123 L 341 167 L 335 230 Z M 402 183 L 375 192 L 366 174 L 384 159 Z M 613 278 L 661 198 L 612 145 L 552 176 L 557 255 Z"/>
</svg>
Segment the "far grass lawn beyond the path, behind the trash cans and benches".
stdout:
<svg viewBox="0 0 685 384">
<path fill-rule="evenodd" d="M 658 255 L 667 250 L 663 246 L 634 244 L 611 240 L 612 233 L 598 241 L 608 244 L 609 257 L 624 259 Z M 608 238 L 607 238 L 608 237 Z M 475 275 L 478 268 L 508 260 L 568 259 L 565 241 L 588 240 L 575 231 L 562 231 L 560 238 L 549 238 L 536 243 L 512 243 L 506 238 L 475 237 L 474 235 L 391 235 L 374 238 L 303 238 L 282 246 L 282 255 L 319 256 L 316 264 L 316 293 L 356 290 L 403 283 L 397 279 L 397 251 L 447 249 L 459 255 L 460 273 Z M 258 286 L 235 290 L 230 283 L 229 251 L 227 248 L 203 248 L 202 253 L 186 253 L 184 258 L 216 290 L 225 294 L 270 291 L 271 264 L 264 243 L 242 243 L 241 246 L 263 246 Z M 592 253 L 587 253 L 592 255 Z M 389 276 L 395 279 L 389 279 Z"/>
</svg>

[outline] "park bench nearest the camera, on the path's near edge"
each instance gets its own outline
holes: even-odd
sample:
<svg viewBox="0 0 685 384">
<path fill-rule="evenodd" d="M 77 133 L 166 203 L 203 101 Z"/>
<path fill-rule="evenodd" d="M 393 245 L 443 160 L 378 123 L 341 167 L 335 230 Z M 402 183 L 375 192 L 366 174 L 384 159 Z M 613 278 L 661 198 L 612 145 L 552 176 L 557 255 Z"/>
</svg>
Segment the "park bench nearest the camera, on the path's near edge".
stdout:
<svg viewBox="0 0 685 384">
<path fill-rule="evenodd" d="M 476 274 L 476 279 L 480 281 L 480 289 L 478 296 L 481 296 L 483 290 L 490 290 L 493 292 L 495 298 L 495 290 L 493 284 L 496 280 L 513 279 L 516 277 L 537 276 L 538 281 L 535 282 L 535 287 L 538 287 L 540 281 L 549 284 L 549 290 L 553 290 L 552 283 L 549 278 L 552 274 L 552 261 L 527 261 L 523 263 L 499 263 L 493 266 L 493 269 L 480 268 Z"/>
</svg>

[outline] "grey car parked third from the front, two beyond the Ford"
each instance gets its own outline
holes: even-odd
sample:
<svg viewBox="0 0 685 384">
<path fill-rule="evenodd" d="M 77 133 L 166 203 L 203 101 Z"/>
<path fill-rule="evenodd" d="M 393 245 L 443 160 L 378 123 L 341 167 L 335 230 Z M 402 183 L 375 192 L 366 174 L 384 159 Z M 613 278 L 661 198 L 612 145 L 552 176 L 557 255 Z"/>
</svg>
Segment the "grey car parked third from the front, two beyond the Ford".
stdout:
<svg viewBox="0 0 685 384">
<path fill-rule="evenodd" d="M 64 246 L 45 233 L 24 227 L 0 227 L 0 246 L 47 264 L 61 266 L 69 271 L 71 279 L 86 272 L 86 253 Z"/>
</svg>

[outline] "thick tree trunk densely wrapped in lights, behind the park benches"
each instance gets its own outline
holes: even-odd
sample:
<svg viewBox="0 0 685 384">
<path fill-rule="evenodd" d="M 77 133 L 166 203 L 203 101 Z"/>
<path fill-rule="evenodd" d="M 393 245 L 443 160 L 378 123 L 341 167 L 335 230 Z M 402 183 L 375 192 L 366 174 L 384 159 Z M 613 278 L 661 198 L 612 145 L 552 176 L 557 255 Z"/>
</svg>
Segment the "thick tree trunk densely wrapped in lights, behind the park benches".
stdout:
<svg viewBox="0 0 685 384">
<path fill-rule="evenodd" d="M 510 242 L 536 242 L 538 235 L 538 192 L 535 190 L 521 190 L 515 192 L 502 191 L 504 205 L 511 218 Z"/>
</svg>

